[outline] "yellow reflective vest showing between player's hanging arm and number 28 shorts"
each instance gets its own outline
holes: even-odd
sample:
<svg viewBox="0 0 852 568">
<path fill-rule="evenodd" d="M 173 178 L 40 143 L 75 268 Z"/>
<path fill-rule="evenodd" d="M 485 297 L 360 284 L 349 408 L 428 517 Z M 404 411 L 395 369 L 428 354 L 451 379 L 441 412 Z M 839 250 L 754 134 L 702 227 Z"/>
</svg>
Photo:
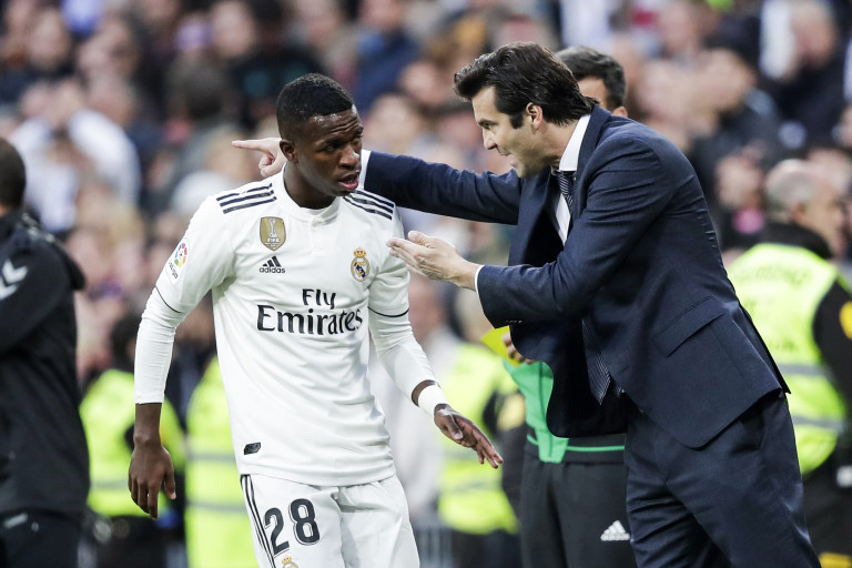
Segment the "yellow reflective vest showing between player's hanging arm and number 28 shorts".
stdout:
<svg viewBox="0 0 852 568">
<path fill-rule="evenodd" d="M 186 412 L 186 556 L 190 568 L 254 568 L 252 528 L 234 462 L 225 386 L 213 358 Z"/>
</svg>

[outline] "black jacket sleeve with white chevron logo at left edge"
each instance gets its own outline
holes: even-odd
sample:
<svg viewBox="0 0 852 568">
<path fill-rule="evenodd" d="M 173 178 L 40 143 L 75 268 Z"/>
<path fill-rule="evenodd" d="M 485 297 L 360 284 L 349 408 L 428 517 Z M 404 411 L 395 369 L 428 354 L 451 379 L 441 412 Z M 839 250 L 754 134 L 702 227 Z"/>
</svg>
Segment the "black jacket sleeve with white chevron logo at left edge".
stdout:
<svg viewBox="0 0 852 568">
<path fill-rule="evenodd" d="M 71 283 L 61 258 L 32 247 L 0 263 L 0 355 L 12 349 L 67 297 Z"/>
</svg>

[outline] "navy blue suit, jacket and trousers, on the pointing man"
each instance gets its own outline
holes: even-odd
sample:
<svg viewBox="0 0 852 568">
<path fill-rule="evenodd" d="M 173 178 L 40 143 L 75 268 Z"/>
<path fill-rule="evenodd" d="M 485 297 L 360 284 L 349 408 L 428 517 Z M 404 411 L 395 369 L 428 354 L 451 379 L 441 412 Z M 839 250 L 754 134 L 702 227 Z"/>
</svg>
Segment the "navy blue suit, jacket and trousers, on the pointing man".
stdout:
<svg viewBox="0 0 852 568">
<path fill-rule="evenodd" d="M 596 108 L 564 243 L 547 211 L 558 192 L 549 170 L 521 180 L 373 153 L 366 186 L 404 207 L 517 225 L 510 266 L 478 275 L 483 308 L 495 326 L 511 324 L 526 357 L 552 368 L 548 426 L 561 436 L 618 425 L 589 422 L 601 407 L 588 389 L 580 318 L 597 336 L 626 395 L 610 390 L 604 407 L 617 417 L 613 399 L 629 402 L 640 567 L 723 566 L 723 556 L 749 568 L 819 566 L 785 385 L 727 278 L 694 171 L 669 141 Z"/>
</svg>

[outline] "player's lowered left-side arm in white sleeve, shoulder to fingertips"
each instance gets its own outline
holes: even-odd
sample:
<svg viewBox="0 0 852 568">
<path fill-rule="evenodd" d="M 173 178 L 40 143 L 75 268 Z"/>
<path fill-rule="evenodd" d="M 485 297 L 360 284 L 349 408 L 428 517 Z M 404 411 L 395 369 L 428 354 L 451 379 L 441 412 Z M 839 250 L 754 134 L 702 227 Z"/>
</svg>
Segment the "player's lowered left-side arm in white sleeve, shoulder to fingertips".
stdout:
<svg viewBox="0 0 852 568">
<path fill-rule="evenodd" d="M 232 260 L 221 209 L 209 199 L 166 261 L 142 314 L 133 372 L 136 416 L 128 488 L 133 501 L 153 518 L 158 517 L 161 487 L 165 487 L 169 498 L 176 497 L 174 465 L 160 439 L 174 333 L 203 295 L 229 274 Z"/>
</svg>

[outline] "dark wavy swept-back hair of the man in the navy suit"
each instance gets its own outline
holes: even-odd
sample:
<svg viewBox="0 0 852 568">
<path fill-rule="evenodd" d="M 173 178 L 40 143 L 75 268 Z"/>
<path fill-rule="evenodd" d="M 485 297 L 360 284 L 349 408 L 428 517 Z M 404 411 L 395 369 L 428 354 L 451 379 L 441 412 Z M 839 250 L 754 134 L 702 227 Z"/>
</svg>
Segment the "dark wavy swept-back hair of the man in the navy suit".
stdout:
<svg viewBox="0 0 852 568">
<path fill-rule="evenodd" d="M 497 110 L 519 128 L 524 109 L 541 106 L 545 120 L 564 126 L 591 112 L 595 99 L 585 97 L 565 63 L 538 43 L 507 43 L 479 55 L 455 75 L 456 94 L 469 101 L 494 87 Z"/>
</svg>

